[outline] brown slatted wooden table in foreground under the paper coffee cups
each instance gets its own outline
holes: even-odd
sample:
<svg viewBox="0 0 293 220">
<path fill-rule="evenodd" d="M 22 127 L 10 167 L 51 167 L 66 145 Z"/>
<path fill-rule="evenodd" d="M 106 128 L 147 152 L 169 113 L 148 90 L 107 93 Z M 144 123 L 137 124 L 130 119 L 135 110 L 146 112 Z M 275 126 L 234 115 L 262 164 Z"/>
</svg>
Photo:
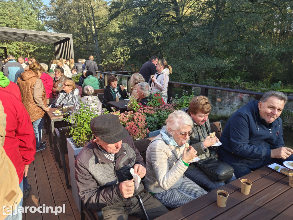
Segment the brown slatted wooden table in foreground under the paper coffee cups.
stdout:
<svg viewBox="0 0 293 220">
<path fill-rule="evenodd" d="M 293 187 L 289 177 L 265 166 L 241 179 L 251 180 L 249 195 L 241 193 L 239 179 L 219 189 L 229 193 L 227 205 L 217 205 L 217 190 L 209 192 L 156 220 L 210 220 L 210 219 L 293 219 Z"/>
</svg>

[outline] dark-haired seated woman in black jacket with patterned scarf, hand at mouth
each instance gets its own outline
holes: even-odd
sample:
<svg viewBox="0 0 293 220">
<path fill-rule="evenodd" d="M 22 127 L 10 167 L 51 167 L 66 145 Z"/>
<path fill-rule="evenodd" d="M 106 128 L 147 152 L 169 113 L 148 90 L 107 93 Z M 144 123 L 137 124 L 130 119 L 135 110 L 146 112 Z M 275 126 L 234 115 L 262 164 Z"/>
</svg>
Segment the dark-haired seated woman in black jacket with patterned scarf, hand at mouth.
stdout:
<svg viewBox="0 0 293 220">
<path fill-rule="evenodd" d="M 111 110 L 108 106 L 108 101 L 115 101 L 116 97 L 119 97 L 119 100 L 127 98 L 126 90 L 124 86 L 117 83 L 117 78 L 115 76 L 109 76 L 107 80 L 108 86 L 106 86 L 103 96 L 103 103 L 107 106 L 108 111 Z"/>
</svg>

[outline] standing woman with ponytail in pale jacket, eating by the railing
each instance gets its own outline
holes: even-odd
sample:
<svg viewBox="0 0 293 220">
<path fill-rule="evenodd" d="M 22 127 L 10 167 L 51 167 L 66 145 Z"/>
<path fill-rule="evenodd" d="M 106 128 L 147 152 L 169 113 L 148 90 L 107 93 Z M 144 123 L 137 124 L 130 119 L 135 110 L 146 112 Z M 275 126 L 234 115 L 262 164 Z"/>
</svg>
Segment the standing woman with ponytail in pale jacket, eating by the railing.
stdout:
<svg viewBox="0 0 293 220">
<path fill-rule="evenodd" d="M 172 73 L 172 67 L 168 65 L 165 59 L 160 59 L 156 65 L 158 71 L 153 77 L 151 76 L 151 94 L 160 92 L 164 102 L 167 103 L 167 91 L 169 74 Z"/>
</svg>

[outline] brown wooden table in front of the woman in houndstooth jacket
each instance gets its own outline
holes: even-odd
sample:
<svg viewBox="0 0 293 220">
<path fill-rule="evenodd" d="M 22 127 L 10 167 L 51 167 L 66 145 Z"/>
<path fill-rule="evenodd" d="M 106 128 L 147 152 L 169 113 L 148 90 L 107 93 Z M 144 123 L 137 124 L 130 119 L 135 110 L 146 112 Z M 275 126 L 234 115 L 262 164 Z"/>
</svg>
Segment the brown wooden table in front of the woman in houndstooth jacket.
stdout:
<svg viewBox="0 0 293 220">
<path fill-rule="evenodd" d="M 55 115 L 53 114 L 53 112 L 55 110 L 57 110 L 60 108 L 52 108 L 50 109 L 49 111 L 46 111 L 47 113 L 47 132 L 48 132 L 48 135 L 49 135 L 49 144 L 51 147 L 54 148 L 54 152 L 55 152 L 55 161 L 57 162 L 60 158 L 59 158 L 59 152 L 58 152 L 58 149 L 56 147 L 56 139 L 55 139 L 55 132 L 54 132 L 54 128 L 55 128 L 55 122 L 56 121 L 62 121 L 64 118 L 66 118 L 66 115 Z M 68 107 L 68 110 L 71 111 L 72 110 L 72 107 Z M 62 110 L 60 110 L 62 111 Z M 51 127 L 50 127 L 50 124 L 51 124 Z M 52 140 L 51 140 L 51 131 L 52 131 L 52 138 L 53 138 L 53 145 L 52 145 Z M 59 163 L 60 164 L 60 163 Z"/>
</svg>

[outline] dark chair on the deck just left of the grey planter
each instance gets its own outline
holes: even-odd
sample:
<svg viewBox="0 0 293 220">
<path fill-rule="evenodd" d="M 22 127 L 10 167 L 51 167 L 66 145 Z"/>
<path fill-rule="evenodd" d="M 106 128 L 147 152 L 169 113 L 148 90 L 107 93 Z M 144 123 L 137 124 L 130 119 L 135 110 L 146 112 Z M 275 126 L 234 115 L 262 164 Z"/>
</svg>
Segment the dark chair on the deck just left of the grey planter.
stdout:
<svg viewBox="0 0 293 220">
<path fill-rule="evenodd" d="M 56 158 L 56 162 L 58 161 L 59 168 L 62 168 L 61 161 L 60 161 L 60 155 L 61 155 L 61 160 L 64 168 L 64 175 L 65 175 L 65 181 L 66 181 L 66 186 L 67 189 L 71 188 L 71 185 L 69 185 L 69 179 L 68 179 L 68 174 L 67 174 L 67 168 L 66 168 L 66 162 L 65 162 L 65 154 L 68 154 L 67 151 L 67 142 L 66 138 L 71 138 L 70 134 L 70 128 L 69 126 L 67 127 L 62 127 L 62 128 L 54 128 L 55 131 L 55 136 L 57 137 L 57 147 L 59 150 L 58 158 Z"/>
</svg>

